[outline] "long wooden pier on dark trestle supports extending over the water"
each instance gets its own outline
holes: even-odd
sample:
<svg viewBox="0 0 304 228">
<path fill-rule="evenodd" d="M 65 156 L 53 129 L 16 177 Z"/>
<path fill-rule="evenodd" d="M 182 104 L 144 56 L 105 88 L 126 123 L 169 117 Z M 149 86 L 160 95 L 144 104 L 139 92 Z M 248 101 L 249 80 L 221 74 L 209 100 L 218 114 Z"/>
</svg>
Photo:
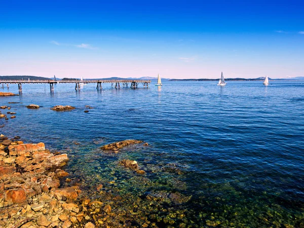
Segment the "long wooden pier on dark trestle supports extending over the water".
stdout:
<svg viewBox="0 0 304 228">
<path fill-rule="evenodd" d="M 101 90 L 103 83 L 110 83 L 111 86 L 115 87 L 116 89 L 120 89 L 122 87 L 128 87 L 130 85 L 131 89 L 137 89 L 138 85 L 142 84 L 143 87 L 148 88 L 149 83 L 151 80 L 65 80 L 65 81 L 58 81 L 58 80 L 0 80 L 0 85 L 4 88 L 4 84 L 7 84 L 9 88 L 9 84 L 18 84 L 19 91 L 22 91 L 22 84 L 50 84 L 51 92 L 54 91 L 54 84 L 66 84 L 66 83 L 73 83 L 75 84 L 75 90 L 80 90 L 81 84 L 97 84 L 96 89 Z"/>
</svg>

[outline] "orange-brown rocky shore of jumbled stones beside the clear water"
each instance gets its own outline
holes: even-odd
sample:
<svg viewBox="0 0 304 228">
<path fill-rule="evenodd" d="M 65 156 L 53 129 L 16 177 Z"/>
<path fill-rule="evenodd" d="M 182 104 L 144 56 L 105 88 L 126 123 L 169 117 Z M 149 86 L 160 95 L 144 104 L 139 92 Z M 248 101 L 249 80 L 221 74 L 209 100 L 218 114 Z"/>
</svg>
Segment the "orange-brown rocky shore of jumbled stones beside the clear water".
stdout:
<svg viewBox="0 0 304 228">
<path fill-rule="evenodd" d="M 111 213 L 109 205 L 83 198 L 77 185 L 60 187 L 67 162 L 66 154 L 53 154 L 42 142 L 1 135 L 0 227 L 109 227 L 100 219 Z"/>
</svg>

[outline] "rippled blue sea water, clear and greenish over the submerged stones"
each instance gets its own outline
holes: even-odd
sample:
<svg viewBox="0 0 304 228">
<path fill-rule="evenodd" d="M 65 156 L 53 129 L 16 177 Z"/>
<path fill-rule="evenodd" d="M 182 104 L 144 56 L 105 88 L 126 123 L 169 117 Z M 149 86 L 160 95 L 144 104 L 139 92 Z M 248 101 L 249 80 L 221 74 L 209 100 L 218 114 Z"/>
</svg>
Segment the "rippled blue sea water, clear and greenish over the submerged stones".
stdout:
<svg viewBox="0 0 304 228">
<path fill-rule="evenodd" d="M 304 226 L 304 82 L 216 83 L 103 84 L 101 91 L 58 84 L 54 93 L 23 85 L 20 96 L 0 97 L 17 112 L 0 119 L 0 133 L 67 153 L 72 182 L 62 184 L 81 183 L 84 194 L 124 211 L 132 225 Z M 0 91 L 18 93 L 18 86 Z M 27 109 L 32 103 L 41 108 Z M 56 112 L 55 105 L 76 109 Z M 125 139 L 149 145 L 100 149 Z M 123 159 L 146 174 L 119 165 Z"/>
</svg>

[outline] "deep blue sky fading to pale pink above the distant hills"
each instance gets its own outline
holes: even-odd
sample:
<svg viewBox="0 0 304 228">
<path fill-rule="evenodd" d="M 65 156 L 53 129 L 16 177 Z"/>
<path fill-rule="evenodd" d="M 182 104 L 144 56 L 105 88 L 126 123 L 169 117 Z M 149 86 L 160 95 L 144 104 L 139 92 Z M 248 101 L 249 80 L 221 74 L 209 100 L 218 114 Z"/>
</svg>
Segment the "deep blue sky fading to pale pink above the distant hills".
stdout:
<svg viewBox="0 0 304 228">
<path fill-rule="evenodd" d="M 302 1 L 0 0 L 0 75 L 304 76 Z"/>
</svg>

